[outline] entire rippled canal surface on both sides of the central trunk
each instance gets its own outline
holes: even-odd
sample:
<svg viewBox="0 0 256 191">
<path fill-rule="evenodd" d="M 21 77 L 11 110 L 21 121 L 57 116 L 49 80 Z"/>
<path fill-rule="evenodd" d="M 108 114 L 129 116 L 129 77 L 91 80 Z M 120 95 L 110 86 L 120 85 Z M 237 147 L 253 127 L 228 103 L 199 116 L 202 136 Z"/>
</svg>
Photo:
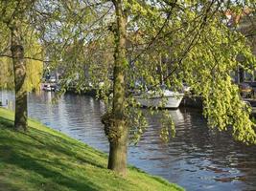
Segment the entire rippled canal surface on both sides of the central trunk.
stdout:
<svg viewBox="0 0 256 191">
<path fill-rule="evenodd" d="M 101 123 L 104 103 L 77 95 L 61 96 L 53 103 L 54 96 L 45 92 L 30 94 L 30 117 L 107 153 L 108 142 Z M 11 100 L 13 107 L 11 93 L 2 94 L 2 99 L 3 103 Z M 256 190 L 256 146 L 245 146 L 227 133 L 208 129 L 197 110 L 170 113 L 175 121 L 175 138 L 163 143 L 159 138 L 159 117 L 150 117 L 150 126 L 141 141 L 129 146 L 130 164 L 187 190 Z"/>
</svg>

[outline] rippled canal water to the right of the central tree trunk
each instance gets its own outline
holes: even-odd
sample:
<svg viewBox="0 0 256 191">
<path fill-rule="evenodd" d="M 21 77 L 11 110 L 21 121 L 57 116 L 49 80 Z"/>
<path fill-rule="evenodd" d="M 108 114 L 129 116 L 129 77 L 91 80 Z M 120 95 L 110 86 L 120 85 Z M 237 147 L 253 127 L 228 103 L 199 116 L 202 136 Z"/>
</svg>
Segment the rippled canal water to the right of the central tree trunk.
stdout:
<svg viewBox="0 0 256 191">
<path fill-rule="evenodd" d="M 227 134 L 209 130 L 197 111 L 171 114 L 176 119 L 176 137 L 162 145 L 157 137 L 159 123 L 153 118 L 140 142 L 141 159 L 147 161 L 140 166 L 188 190 L 255 190 L 255 146 L 245 147 Z"/>
</svg>

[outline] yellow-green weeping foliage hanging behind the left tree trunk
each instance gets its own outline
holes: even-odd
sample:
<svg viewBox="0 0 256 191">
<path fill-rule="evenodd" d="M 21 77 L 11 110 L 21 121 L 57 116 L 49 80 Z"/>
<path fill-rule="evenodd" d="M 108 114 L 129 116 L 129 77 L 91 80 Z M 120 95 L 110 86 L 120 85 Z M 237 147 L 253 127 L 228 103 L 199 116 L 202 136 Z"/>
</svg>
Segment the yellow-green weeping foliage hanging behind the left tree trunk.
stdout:
<svg viewBox="0 0 256 191">
<path fill-rule="evenodd" d="M 20 24 L 20 36 L 23 42 L 26 62 L 26 88 L 28 91 L 39 90 L 42 75 L 42 45 L 38 42 L 38 32 L 34 31 L 29 23 L 29 16 L 32 13 L 32 7 L 35 1 L 2 1 L 0 3 L 0 56 L 1 56 L 1 72 L 0 87 L 13 89 L 13 65 L 11 53 L 11 29 L 15 22 Z M 26 14 L 26 16 L 24 16 Z M 4 80 L 5 79 L 5 80 Z"/>
</svg>

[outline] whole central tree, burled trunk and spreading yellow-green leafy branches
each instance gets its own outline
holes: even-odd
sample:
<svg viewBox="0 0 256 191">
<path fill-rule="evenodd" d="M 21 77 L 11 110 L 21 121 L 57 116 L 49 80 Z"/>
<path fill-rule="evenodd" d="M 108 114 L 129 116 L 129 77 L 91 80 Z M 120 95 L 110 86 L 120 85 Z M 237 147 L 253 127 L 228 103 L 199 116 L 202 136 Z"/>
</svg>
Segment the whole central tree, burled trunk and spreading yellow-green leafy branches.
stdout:
<svg viewBox="0 0 256 191">
<path fill-rule="evenodd" d="M 243 3 L 218 0 L 112 0 L 91 5 L 86 0 L 67 2 L 61 8 L 63 11 L 58 11 L 61 25 L 58 25 L 58 21 L 53 22 L 60 30 L 55 30 L 54 35 L 57 39 L 61 36 L 53 40 L 55 53 L 65 52 L 59 54 L 62 63 L 65 56 L 74 61 L 70 62 L 67 72 L 72 69 L 81 71 L 84 64 L 88 63 L 85 60 L 91 57 L 86 54 L 89 48 L 103 36 L 114 36 L 112 47 L 109 48 L 108 43 L 104 44 L 105 49 L 114 48 L 113 63 L 105 65 L 113 75 L 112 104 L 108 105 L 109 110 L 103 117 L 105 134 L 110 144 L 109 169 L 126 176 L 129 127 L 134 127 L 139 134 L 145 130 L 141 127 L 141 124 L 145 125 L 141 113 L 136 115 L 131 109 L 131 106 L 136 106 L 136 101 L 127 88 L 128 85 L 134 87 L 138 79 L 160 93 L 159 85 L 163 81 L 175 91 L 182 87 L 183 82 L 188 83 L 197 95 L 203 97 L 204 116 L 211 127 L 220 130 L 231 127 L 234 138 L 245 143 L 255 143 L 255 124 L 249 119 L 248 108 L 229 76 L 230 71 L 247 64 L 237 62 L 235 58 L 239 53 L 251 60 L 254 58 L 245 46 L 244 36 L 229 30 L 224 21 L 224 12 L 232 9 L 231 5 L 241 9 Z M 83 17 L 90 12 L 88 10 L 102 12 L 105 8 L 108 10 L 106 13 L 90 22 L 88 17 Z M 58 44 L 62 48 L 57 48 Z M 76 50 L 76 47 L 80 50 Z M 71 53 L 75 56 L 71 56 Z M 97 55 L 90 61 L 99 60 L 99 55 L 103 54 Z M 98 64 L 96 61 L 93 63 Z M 162 77 L 156 70 L 160 64 Z M 253 66 L 255 61 L 250 64 Z M 93 64 L 86 66 L 91 67 Z M 142 88 L 142 91 L 145 89 Z M 167 124 L 172 126 L 173 123 Z M 172 130 L 165 129 L 163 132 L 168 134 Z"/>
</svg>

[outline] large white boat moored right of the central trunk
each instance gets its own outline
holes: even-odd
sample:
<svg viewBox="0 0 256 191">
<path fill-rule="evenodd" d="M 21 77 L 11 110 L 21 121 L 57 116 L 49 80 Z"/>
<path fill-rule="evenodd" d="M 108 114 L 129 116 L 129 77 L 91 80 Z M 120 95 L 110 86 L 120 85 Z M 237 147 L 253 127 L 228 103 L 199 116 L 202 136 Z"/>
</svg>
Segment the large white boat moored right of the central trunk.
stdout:
<svg viewBox="0 0 256 191">
<path fill-rule="evenodd" d="M 162 93 L 148 91 L 146 94 L 134 96 L 134 98 L 137 100 L 138 103 L 140 103 L 141 106 L 177 109 L 183 96 L 183 93 L 163 90 Z"/>
</svg>

